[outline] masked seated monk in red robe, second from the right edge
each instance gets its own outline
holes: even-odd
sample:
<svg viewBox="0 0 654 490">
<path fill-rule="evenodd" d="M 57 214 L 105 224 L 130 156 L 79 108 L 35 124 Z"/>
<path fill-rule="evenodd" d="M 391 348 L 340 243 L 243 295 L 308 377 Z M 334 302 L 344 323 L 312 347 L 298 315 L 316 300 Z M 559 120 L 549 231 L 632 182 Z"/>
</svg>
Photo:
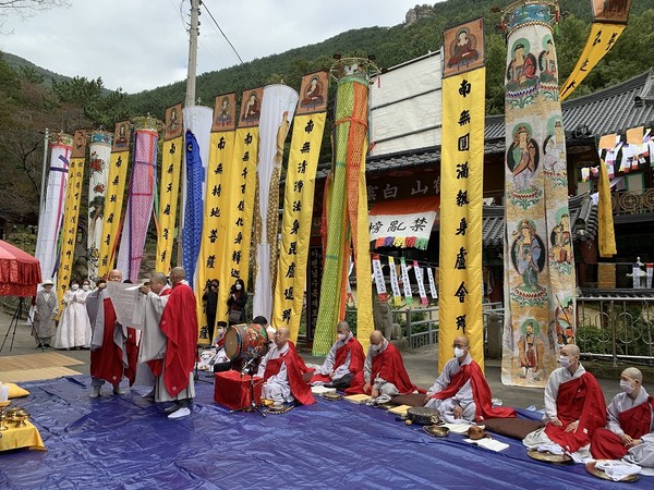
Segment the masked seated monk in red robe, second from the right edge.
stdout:
<svg viewBox="0 0 654 490">
<path fill-rule="evenodd" d="M 560 350 L 560 368 L 549 375 L 545 387 L 547 424 L 522 440 L 528 448 L 559 444 L 579 457 L 588 451 L 595 429 L 606 425 L 606 403 L 602 388 L 593 375 L 579 363 L 580 351 L 574 344 Z"/>
</svg>

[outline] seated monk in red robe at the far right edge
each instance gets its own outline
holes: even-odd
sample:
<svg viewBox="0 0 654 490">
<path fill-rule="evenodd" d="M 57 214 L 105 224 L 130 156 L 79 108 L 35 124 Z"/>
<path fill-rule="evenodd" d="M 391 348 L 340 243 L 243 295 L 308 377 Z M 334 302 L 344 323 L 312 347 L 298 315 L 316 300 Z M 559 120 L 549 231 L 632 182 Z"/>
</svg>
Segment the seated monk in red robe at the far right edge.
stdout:
<svg viewBox="0 0 654 490">
<path fill-rule="evenodd" d="M 619 460 L 654 468 L 654 397 L 642 385 L 634 367 L 620 376 L 620 390 L 606 408 L 606 428 L 593 432 L 591 454 L 597 460 Z"/>
</svg>

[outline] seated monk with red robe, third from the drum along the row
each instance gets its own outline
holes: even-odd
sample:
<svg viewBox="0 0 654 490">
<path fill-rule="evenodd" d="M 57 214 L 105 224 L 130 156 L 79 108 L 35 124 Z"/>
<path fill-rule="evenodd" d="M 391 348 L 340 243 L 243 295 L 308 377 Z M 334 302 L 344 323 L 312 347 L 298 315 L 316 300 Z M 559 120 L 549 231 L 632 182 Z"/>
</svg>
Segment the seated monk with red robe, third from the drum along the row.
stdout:
<svg viewBox="0 0 654 490">
<path fill-rule="evenodd" d="M 409 379 L 398 348 L 388 342 L 379 330 L 374 330 L 363 364 L 363 385 L 352 383 L 346 393 L 366 393 L 376 399 L 382 394 L 395 396 L 416 391 L 417 388 Z"/>
</svg>

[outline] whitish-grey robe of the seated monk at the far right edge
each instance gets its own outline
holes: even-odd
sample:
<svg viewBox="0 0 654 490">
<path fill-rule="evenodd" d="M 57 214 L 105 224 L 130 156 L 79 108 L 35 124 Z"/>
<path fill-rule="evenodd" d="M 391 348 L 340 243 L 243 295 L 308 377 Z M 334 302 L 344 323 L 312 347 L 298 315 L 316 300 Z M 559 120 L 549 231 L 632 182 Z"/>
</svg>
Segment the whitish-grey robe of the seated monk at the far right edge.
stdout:
<svg viewBox="0 0 654 490">
<path fill-rule="evenodd" d="M 618 436 L 622 436 L 625 431 L 620 427 L 620 414 L 634 406 L 647 403 L 649 396 L 642 387 L 635 400 L 631 400 L 627 393 L 615 395 L 608 407 L 606 407 L 606 414 L 608 415 L 606 428 Z M 634 445 L 629 450 L 629 453 L 625 456 L 625 461 L 642 466 L 643 470 L 641 473 L 652 476 L 654 475 L 654 414 L 650 420 L 650 433 L 643 436 L 641 440 L 643 441 L 641 444 Z"/>
</svg>

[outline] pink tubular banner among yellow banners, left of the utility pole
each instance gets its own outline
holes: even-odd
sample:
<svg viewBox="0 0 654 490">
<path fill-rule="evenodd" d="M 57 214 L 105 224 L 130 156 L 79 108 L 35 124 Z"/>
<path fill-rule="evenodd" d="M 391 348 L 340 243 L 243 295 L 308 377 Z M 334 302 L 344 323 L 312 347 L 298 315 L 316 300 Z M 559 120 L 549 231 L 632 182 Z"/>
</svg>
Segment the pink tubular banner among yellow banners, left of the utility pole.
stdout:
<svg viewBox="0 0 654 490">
<path fill-rule="evenodd" d="M 122 226 L 118 269 L 124 279 L 138 282 L 145 238 L 155 203 L 157 143 L 161 122 L 155 118 L 134 118 L 134 151 L 125 218 Z"/>
</svg>

